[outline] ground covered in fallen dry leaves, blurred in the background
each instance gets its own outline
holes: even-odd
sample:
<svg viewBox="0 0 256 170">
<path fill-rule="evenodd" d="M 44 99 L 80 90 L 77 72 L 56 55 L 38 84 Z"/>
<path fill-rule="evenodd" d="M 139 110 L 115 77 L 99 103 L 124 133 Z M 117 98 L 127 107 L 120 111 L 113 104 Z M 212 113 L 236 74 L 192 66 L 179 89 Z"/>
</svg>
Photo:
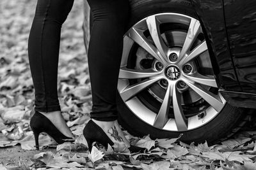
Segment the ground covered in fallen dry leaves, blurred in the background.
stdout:
<svg viewBox="0 0 256 170">
<path fill-rule="evenodd" d="M 76 142 L 56 146 L 42 134 L 42 147 L 35 151 L 29 127 L 34 91 L 27 50 L 35 5 L 35 0 L 0 1 L 0 169 L 256 169 L 252 130 L 214 146 L 136 138 L 125 132 L 133 145 L 147 150 L 131 154 L 96 145 L 89 153 L 82 135 L 92 107 L 81 29 L 83 0 L 75 1 L 63 25 L 58 78 L 63 117 Z"/>
</svg>

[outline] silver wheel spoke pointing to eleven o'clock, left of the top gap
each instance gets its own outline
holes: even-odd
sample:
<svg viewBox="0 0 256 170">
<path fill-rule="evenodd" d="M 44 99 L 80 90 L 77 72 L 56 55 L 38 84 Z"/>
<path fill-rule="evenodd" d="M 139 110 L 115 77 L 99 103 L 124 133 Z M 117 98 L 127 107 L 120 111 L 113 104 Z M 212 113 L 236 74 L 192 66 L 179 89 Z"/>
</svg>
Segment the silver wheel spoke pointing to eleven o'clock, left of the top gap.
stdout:
<svg viewBox="0 0 256 170">
<path fill-rule="evenodd" d="M 168 53 L 168 47 L 164 44 L 163 38 L 161 36 L 161 32 L 159 30 L 159 25 L 161 22 L 156 18 L 156 16 L 152 15 L 147 18 L 147 25 L 148 30 L 150 32 L 150 35 L 152 36 L 152 39 L 161 53 L 161 55 L 164 57 L 164 59 L 168 62 L 167 59 L 167 53 Z"/>
</svg>

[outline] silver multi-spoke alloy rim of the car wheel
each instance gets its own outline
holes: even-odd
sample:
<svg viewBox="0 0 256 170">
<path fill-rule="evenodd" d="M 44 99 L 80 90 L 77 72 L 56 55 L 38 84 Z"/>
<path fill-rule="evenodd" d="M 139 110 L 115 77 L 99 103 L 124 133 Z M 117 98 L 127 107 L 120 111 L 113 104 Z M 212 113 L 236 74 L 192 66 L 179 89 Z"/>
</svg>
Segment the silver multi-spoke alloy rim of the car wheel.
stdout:
<svg viewBox="0 0 256 170">
<path fill-rule="evenodd" d="M 161 24 L 177 23 L 188 25 L 188 32 L 182 46 L 166 46 L 160 29 Z M 145 36 L 149 32 L 152 41 Z M 193 60 L 207 52 L 205 40 L 194 48 L 198 35 L 202 34 L 200 22 L 179 13 L 151 15 L 133 25 L 124 36 L 124 52 L 118 80 L 118 92 L 129 110 L 138 118 L 157 129 L 166 131 L 189 131 L 207 124 L 216 117 L 226 104 L 220 92 L 214 94 L 210 88 L 218 88 L 214 76 L 200 74 Z M 136 44 L 154 58 L 147 69 L 128 68 L 127 62 L 132 46 Z M 131 84 L 130 80 L 137 80 Z M 158 111 L 152 111 L 138 97 L 141 91 L 164 81 L 165 94 Z M 182 90 L 193 90 L 209 104 L 204 117 L 186 117 L 182 108 Z M 173 110 L 174 118 L 168 117 Z"/>
</svg>

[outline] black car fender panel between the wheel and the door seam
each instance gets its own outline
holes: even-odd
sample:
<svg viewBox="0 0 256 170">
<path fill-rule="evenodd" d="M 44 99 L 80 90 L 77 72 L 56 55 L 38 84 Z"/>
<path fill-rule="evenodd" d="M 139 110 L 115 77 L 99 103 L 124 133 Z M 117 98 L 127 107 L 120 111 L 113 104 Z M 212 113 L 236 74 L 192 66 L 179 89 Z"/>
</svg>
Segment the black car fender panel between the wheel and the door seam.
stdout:
<svg viewBox="0 0 256 170">
<path fill-rule="evenodd" d="M 212 66 L 215 68 L 214 73 L 217 80 L 220 81 L 220 88 L 241 92 L 232 57 L 230 57 L 222 1 L 191 0 L 191 3 L 195 7 L 200 22 L 202 22 L 205 29 L 205 35 L 209 40 L 207 43 Z M 216 71 L 216 68 L 219 71 Z"/>
</svg>

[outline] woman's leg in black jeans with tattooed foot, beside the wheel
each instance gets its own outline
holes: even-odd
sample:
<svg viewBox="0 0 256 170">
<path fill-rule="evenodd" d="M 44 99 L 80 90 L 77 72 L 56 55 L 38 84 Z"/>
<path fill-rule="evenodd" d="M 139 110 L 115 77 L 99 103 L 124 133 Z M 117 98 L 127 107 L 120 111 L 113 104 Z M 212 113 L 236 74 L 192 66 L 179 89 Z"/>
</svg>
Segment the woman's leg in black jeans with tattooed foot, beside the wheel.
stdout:
<svg viewBox="0 0 256 170">
<path fill-rule="evenodd" d="M 88 50 L 93 107 L 91 118 L 114 143 L 125 139 L 116 119 L 116 90 L 123 50 L 123 36 L 129 18 L 128 0 L 88 0 L 93 28 Z M 116 141 L 115 137 L 122 140 Z"/>
</svg>

